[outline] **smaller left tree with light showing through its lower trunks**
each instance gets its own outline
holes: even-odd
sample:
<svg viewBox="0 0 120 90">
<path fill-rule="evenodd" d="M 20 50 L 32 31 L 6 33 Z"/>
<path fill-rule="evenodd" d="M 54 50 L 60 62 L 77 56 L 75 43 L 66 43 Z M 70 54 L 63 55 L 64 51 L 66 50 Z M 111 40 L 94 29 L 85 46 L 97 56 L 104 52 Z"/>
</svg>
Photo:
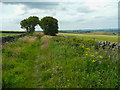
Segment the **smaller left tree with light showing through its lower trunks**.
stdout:
<svg viewBox="0 0 120 90">
<path fill-rule="evenodd" d="M 20 22 L 21 28 L 26 29 L 28 33 L 33 33 L 37 24 L 39 24 L 39 18 L 37 16 L 30 16 Z"/>
</svg>

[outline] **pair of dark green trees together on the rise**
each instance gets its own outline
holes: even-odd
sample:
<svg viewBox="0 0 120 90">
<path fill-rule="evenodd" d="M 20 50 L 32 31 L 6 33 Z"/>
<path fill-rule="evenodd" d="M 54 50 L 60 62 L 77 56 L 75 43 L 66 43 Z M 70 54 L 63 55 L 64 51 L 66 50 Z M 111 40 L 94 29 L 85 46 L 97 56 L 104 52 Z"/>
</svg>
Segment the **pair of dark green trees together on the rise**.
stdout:
<svg viewBox="0 0 120 90">
<path fill-rule="evenodd" d="M 25 29 L 27 33 L 33 33 L 35 31 L 35 26 L 39 25 L 45 35 L 56 35 L 58 33 L 58 20 L 46 16 L 39 20 L 37 16 L 30 16 L 20 22 L 21 28 Z"/>
</svg>

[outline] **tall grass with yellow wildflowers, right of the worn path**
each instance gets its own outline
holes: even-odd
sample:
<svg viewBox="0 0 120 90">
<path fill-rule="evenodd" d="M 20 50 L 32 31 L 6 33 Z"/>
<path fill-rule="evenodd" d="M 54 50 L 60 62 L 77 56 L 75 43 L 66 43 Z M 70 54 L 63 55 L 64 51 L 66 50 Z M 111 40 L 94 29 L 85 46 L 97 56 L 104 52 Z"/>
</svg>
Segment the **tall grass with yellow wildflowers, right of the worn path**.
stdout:
<svg viewBox="0 0 120 90">
<path fill-rule="evenodd" d="M 42 87 L 116 88 L 119 85 L 117 51 L 96 51 L 94 46 L 76 47 L 68 40 L 51 41 L 41 61 Z M 67 43 L 66 43 L 67 42 Z M 109 59 L 109 55 L 111 56 Z M 44 55 L 43 55 L 44 56 Z M 45 56 L 44 56 L 45 57 Z M 44 66 L 44 68 L 42 68 Z M 46 80 L 44 78 L 47 78 Z"/>
</svg>

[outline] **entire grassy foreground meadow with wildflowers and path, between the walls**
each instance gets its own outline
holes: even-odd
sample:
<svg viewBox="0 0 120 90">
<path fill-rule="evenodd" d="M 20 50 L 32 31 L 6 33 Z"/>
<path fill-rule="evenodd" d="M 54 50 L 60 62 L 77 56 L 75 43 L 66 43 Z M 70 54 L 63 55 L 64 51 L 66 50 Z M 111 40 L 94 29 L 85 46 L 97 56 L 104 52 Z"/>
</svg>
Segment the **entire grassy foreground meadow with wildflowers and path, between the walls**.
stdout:
<svg viewBox="0 0 120 90">
<path fill-rule="evenodd" d="M 92 39 L 68 39 L 41 33 L 6 43 L 0 48 L 2 87 L 119 88 L 118 49 L 96 50 L 95 47 Z"/>
</svg>

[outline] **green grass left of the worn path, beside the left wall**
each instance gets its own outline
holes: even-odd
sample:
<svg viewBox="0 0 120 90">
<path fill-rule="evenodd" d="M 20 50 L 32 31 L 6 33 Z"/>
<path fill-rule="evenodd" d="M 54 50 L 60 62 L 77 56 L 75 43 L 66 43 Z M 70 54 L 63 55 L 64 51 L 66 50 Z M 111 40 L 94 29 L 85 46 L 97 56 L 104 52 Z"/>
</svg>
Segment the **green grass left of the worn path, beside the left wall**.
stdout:
<svg viewBox="0 0 120 90">
<path fill-rule="evenodd" d="M 30 38 L 30 36 L 27 36 Z M 39 38 L 39 37 L 38 37 Z M 2 86 L 3 88 L 29 87 L 33 79 L 34 63 L 40 40 L 29 42 L 25 37 L 5 44 L 2 48 Z"/>
</svg>

